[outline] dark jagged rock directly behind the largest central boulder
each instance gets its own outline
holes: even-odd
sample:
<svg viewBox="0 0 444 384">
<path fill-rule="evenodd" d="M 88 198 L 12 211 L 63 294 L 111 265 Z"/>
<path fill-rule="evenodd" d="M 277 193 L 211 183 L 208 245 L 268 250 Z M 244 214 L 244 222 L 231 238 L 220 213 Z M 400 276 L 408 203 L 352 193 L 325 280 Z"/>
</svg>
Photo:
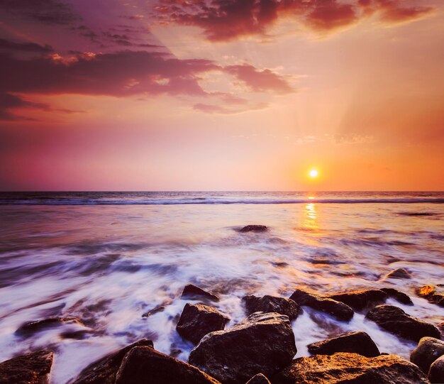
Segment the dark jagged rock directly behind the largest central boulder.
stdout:
<svg viewBox="0 0 444 384">
<path fill-rule="evenodd" d="M 280 314 L 285 314 L 290 320 L 296 319 L 299 313 L 301 313 L 301 308 L 291 299 L 286 299 L 285 297 L 276 297 L 265 295 L 262 297 L 257 296 L 245 296 L 243 297 L 243 302 L 248 314 L 254 312 L 277 312 Z"/>
</svg>

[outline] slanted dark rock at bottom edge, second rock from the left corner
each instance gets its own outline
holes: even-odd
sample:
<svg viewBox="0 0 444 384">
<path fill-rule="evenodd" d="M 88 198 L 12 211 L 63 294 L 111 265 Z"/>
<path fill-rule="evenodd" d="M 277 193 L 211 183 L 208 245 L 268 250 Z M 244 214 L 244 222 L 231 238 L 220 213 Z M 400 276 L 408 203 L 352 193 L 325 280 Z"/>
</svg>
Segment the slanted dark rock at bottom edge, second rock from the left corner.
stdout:
<svg viewBox="0 0 444 384">
<path fill-rule="evenodd" d="M 104 358 L 87 366 L 75 378 L 70 381 L 72 384 L 114 384 L 116 381 L 116 373 L 121 366 L 123 357 L 136 346 L 148 346 L 154 348 L 152 341 L 142 339 L 125 348 L 119 349 L 117 352 L 111 353 Z"/>
</svg>

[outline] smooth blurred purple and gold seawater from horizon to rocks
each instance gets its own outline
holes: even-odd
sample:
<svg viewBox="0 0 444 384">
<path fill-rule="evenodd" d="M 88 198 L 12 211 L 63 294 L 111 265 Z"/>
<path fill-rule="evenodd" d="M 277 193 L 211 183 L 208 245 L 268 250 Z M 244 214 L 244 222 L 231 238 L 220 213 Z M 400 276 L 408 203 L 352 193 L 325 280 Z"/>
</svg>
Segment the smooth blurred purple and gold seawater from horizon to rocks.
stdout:
<svg viewBox="0 0 444 384">
<path fill-rule="evenodd" d="M 245 318 L 243 295 L 289 297 L 294 287 L 396 287 L 415 305 L 389 303 L 438 324 L 444 309 L 416 297 L 414 287 L 444 281 L 443 202 L 439 192 L 0 194 L 0 361 L 55 349 L 52 382 L 64 384 L 143 337 L 186 361 L 192 344 L 175 324 L 188 283 L 221 296 L 214 306 L 231 317 L 228 327 Z M 270 231 L 236 231 L 247 224 Z M 412 278 L 384 279 L 399 267 Z M 142 317 L 157 305 L 165 311 Z M 14 334 L 24 322 L 54 316 L 77 316 L 85 326 Z M 293 327 L 297 356 L 313 341 L 358 329 L 381 351 L 407 357 L 414 349 L 364 314 L 345 323 L 306 309 Z M 87 332 L 74 339 L 71 331 Z"/>
</svg>

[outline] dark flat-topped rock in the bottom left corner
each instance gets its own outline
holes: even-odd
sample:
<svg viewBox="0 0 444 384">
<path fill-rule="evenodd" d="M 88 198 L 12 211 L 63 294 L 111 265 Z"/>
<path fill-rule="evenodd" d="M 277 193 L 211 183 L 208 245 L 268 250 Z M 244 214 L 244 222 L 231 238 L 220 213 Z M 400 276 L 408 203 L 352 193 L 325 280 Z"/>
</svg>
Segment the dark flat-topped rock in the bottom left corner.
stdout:
<svg viewBox="0 0 444 384">
<path fill-rule="evenodd" d="M 1 384 L 48 384 L 54 353 L 43 350 L 0 363 Z"/>
</svg>

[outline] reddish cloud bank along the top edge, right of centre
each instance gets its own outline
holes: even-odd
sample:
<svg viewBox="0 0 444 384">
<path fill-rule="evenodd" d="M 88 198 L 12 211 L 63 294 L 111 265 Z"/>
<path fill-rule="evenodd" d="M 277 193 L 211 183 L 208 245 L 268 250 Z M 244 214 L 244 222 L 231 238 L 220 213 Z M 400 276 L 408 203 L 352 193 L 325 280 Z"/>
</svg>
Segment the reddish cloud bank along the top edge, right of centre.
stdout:
<svg viewBox="0 0 444 384">
<path fill-rule="evenodd" d="M 162 24 L 201 28 L 211 41 L 267 35 L 279 18 L 294 21 L 319 33 L 357 23 L 374 13 L 386 23 L 411 21 L 431 8 L 409 5 L 410 0 L 159 0 L 153 16 Z"/>
</svg>

